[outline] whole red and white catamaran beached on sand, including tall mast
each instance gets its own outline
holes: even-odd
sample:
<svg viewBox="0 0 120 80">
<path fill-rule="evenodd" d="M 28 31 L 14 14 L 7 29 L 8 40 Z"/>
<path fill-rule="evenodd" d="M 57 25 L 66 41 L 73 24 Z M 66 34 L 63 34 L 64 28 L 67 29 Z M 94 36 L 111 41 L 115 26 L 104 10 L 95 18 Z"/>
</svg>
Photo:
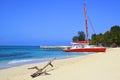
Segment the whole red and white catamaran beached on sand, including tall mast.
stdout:
<svg viewBox="0 0 120 80">
<path fill-rule="evenodd" d="M 72 46 L 64 49 L 64 52 L 105 52 L 106 48 L 103 46 L 89 45 L 88 40 L 88 20 L 86 14 L 86 4 L 84 4 L 84 16 L 85 16 L 85 25 L 86 25 L 86 40 L 72 42 Z"/>
</svg>

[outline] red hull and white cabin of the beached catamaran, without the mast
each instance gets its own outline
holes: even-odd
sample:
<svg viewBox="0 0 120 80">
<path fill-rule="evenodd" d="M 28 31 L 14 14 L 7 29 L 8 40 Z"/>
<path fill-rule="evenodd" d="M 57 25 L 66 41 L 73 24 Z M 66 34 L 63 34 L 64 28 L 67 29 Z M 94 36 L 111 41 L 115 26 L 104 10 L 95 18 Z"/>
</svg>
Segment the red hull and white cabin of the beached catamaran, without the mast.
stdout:
<svg viewBox="0 0 120 80">
<path fill-rule="evenodd" d="M 72 46 L 63 50 L 64 52 L 105 52 L 105 47 L 89 45 L 85 41 L 72 42 Z"/>
</svg>

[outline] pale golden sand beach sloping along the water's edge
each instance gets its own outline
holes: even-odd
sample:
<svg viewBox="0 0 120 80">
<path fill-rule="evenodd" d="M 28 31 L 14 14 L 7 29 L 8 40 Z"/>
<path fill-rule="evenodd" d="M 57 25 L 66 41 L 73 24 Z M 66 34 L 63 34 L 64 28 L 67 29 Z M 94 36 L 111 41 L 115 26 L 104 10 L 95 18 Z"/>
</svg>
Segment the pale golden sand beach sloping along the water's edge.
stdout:
<svg viewBox="0 0 120 80">
<path fill-rule="evenodd" d="M 42 68 L 47 62 L 26 64 L 0 70 L 0 80 L 120 80 L 120 48 L 107 48 L 100 52 L 80 57 L 54 60 L 50 75 L 32 78 L 35 69 Z"/>
</svg>

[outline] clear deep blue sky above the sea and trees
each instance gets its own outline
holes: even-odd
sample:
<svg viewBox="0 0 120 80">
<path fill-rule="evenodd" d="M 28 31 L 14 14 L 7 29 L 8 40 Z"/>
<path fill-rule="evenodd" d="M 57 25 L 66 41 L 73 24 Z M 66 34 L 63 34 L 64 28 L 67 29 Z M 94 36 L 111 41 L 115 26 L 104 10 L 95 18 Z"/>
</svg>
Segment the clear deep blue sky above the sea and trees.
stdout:
<svg viewBox="0 0 120 80">
<path fill-rule="evenodd" d="M 0 45 L 70 45 L 85 31 L 84 3 L 96 34 L 120 25 L 120 0 L 0 0 Z"/>
</svg>

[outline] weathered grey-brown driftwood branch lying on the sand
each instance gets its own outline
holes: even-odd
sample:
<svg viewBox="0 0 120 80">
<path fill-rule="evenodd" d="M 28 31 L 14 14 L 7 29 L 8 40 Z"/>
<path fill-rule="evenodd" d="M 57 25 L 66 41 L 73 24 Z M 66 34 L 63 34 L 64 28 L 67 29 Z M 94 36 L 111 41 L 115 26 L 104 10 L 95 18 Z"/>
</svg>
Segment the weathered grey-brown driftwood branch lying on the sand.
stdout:
<svg viewBox="0 0 120 80">
<path fill-rule="evenodd" d="M 41 69 L 39 69 L 37 66 L 28 68 L 28 69 L 36 69 L 36 70 L 37 70 L 37 72 L 35 72 L 35 73 L 33 73 L 33 74 L 31 75 L 31 77 L 34 78 L 34 77 L 37 77 L 37 76 L 39 76 L 39 75 L 41 75 L 41 74 L 49 75 L 47 72 L 49 72 L 49 71 L 51 71 L 51 70 L 46 71 L 45 68 L 47 68 L 47 66 L 49 66 L 49 65 L 50 65 L 51 67 L 53 67 L 52 61 L 54 61 L 54 60 L 55 60 L 55 58 L 53 58 L 52 60 L 50 60 L 50 61 L 49 61 L 43 68 L 41 68 Z"/>
</svg>

